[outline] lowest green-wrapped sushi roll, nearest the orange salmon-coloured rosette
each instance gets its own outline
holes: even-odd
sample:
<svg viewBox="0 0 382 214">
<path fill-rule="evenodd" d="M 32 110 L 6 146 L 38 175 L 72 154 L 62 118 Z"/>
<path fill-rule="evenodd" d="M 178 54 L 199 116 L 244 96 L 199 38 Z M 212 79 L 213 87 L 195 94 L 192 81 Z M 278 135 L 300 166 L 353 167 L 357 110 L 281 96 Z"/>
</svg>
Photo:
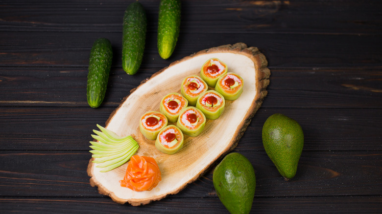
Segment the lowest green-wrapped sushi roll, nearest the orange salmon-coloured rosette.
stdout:
<svg viewBox="0 0 382 214">
<path fill-rule="evenodd" d="M 166 154 L 173 154 L 183 147 L 183 133 L 174 126 L 169 125 L 163 128 L 155 141 L 155 147 Z"/>
</svg>

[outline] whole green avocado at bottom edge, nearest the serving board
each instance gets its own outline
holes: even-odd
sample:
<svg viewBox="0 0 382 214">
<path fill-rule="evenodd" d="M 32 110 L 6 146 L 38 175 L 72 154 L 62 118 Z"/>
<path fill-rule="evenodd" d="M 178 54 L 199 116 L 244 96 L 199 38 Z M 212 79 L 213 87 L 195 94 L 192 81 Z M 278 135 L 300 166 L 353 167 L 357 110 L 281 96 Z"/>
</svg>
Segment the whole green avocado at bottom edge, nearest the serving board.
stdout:
<svg viewBox="0 0 382 214">
<path fill-rule="evenodd" d="M 242 154 L 227 154 L 215 167 L 213 183 L 217 195 L 231 214 L 248 214 L 256 188 L 255 170 Z"/>
</svg>

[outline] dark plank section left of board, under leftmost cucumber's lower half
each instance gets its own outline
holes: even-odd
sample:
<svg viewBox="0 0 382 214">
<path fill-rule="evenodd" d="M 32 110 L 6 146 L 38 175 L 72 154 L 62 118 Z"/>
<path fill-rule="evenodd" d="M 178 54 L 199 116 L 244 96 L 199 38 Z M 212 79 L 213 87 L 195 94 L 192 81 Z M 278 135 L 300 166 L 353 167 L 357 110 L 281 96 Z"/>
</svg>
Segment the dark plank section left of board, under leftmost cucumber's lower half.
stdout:
<svg viewBox="0 0 382 214">
<path fill-rule="evenodd" d="M 166 65 L 164 65 L 166 66 Z M 112 69 L 101 107 L 118 107 L 130 90 L 149 78 L 152 69 L 127 75 Z M 0 106 L 89 107 L 86 98 L 88 68 L 9 67 L 0 74 Z"/>
</svg>

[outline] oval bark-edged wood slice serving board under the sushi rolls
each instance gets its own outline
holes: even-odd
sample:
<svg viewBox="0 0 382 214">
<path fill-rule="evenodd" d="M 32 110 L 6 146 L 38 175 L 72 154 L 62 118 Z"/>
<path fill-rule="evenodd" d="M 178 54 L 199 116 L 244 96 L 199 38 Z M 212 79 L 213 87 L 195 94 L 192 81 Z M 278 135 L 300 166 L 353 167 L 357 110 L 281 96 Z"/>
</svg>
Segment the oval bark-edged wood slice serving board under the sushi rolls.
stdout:
<svg viewBox="0 0 382 214">
<path fill-rule="evenodd" d="M 201 66 L 211 58 L 218 58 L 227 64 L 230 72 L 245 80 L 240 99 L 226 101 L 224 114 L 216 120 L 208 120 L 198 136 L 185 136 L 183 148 L 175 154 L 168 155 L 157 150 L 153 141 L 145 139 L 139 131 L 141 116 L 147 111 L 159 111 L 161 99 L 168 93 L 179 93 L 183 79 L 199 75 Z M 101 172 L 97 164 L 90 162 L 88 174 L 92 177 L 92 186 L 97 186 L 99 193 L 110 196 L 118 203 L 128 202 L 133 206 L 179 193 L 200 177 L 216 159 L 236 147 L 267 94 L 270 71 L 266 66 L 267 61 L 258 48 L 236 43 L 201 50 L 143 81 L 110 115 L 106 128 L 119 136 L 132 135 L 140 145 L 137 154 L 156 160 L 162 180 L 151 191 L 135 192 L 121 188 L 119 184 L 126 164 L 113 171 Z"/>
</svg>

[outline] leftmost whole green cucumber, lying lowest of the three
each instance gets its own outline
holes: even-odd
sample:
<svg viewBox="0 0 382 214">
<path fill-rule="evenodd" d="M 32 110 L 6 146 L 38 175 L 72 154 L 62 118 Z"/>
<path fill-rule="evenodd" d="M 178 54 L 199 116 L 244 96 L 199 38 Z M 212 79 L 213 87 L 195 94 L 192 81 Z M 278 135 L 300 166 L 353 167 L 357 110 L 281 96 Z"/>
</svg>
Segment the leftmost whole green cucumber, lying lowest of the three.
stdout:
<svg viewBox="0 0 382 214">
<path fill-rule="evenodd" d="M 90 107 L 99 107 L 105 97 L 113 50 L 108 39 L 97 39 L 90 51 L 87 98 Z"/>
</svg>

